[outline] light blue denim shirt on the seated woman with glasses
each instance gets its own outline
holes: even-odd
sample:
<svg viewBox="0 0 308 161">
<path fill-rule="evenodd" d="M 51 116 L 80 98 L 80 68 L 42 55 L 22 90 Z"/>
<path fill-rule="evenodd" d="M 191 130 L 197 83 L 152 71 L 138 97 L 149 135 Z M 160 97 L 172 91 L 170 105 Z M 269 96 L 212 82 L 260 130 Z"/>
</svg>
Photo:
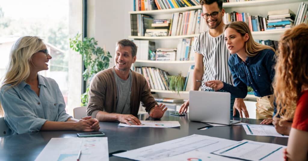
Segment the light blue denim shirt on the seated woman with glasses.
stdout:
<svg viewBox="0 0 308 161">
<path fill-rule="evenodd" d="M 25 81 L 14 87 L 5 85 L 1 88 L 0 102 L 11 135 L 40 131 L 47 120 L 63 122 L 71 118 L 64 110 L 63 95 L 55 80 L 41 75 L 38 80 L 39 97 Z"/>
</svg>

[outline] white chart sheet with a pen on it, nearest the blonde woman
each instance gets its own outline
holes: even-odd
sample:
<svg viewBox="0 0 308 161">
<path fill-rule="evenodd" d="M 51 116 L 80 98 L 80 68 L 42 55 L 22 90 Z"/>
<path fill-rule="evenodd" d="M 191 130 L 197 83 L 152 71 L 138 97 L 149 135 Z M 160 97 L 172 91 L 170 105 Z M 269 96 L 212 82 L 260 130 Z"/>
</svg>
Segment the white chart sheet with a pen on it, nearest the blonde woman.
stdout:
<svg viewBox="0 0 308 161">
<path fill-rule="evenodd" d="M 109 160 L 107 137 L 51 138 L 36 161 Z"/>
</svg>

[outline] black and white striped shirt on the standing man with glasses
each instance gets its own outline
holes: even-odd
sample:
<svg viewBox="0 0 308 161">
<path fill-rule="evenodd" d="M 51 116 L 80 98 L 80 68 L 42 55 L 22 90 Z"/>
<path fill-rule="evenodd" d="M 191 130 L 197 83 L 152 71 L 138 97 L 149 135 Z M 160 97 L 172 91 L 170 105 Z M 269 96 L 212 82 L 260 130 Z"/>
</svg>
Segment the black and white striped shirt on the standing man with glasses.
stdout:
<svg viewBox="0 0 308 161">
<path fill-rule="evenodd" d="M 224 34 L 212 37 L 209 30 L 199 34 L 195 38 L 194 52 L 203 55 L 204 73 L 202 81 L 221 80 L 233 85 L 233 78 L 228 66 L 230 52 L 225 44 Z M 201 85 L 202 91 L 211 89 L 204 83 Z"/>
</svg>

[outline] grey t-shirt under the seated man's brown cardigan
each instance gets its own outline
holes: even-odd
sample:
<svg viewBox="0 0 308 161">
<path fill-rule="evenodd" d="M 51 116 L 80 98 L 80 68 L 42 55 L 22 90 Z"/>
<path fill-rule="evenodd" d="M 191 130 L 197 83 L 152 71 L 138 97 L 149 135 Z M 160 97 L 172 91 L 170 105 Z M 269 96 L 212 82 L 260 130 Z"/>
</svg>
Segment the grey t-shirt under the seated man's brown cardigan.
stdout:
<svg viewBox="0 0 308 161">
<path fill-rule="evenodd" d="M 117 90 L 116 109 L 115 113 L 118 114 L 131 114 L 131 87 L 132 87 L 132 71 L 129 71 L 127 80 L 121 79 L 115 71 L 115 83 Z"/>
</svg>

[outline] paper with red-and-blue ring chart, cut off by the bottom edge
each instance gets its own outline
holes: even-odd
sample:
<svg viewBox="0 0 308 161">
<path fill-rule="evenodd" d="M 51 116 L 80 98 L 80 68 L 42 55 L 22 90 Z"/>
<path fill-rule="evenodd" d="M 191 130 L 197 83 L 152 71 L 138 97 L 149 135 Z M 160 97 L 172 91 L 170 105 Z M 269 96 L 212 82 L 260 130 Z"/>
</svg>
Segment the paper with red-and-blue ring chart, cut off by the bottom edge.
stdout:
<svg viewBox="0 0 308 161">
<path fill-rule="evenodd" d="M 183 153 L 180 155 L 175 155 L 172 157 L 168 158 L 162 158 L 162 159 L 157 159 L 155 161 L 235 161 L 238 159 L 232 159 L 232 158 L 227 158 L 223 157 L 220 155 L 215 155 L 215 154 L 210 154 L 210 153 L 205 153 L 205 152 L 199 152 L 199 151 L 189 151 L 187 153 Z"/>
</svg>

